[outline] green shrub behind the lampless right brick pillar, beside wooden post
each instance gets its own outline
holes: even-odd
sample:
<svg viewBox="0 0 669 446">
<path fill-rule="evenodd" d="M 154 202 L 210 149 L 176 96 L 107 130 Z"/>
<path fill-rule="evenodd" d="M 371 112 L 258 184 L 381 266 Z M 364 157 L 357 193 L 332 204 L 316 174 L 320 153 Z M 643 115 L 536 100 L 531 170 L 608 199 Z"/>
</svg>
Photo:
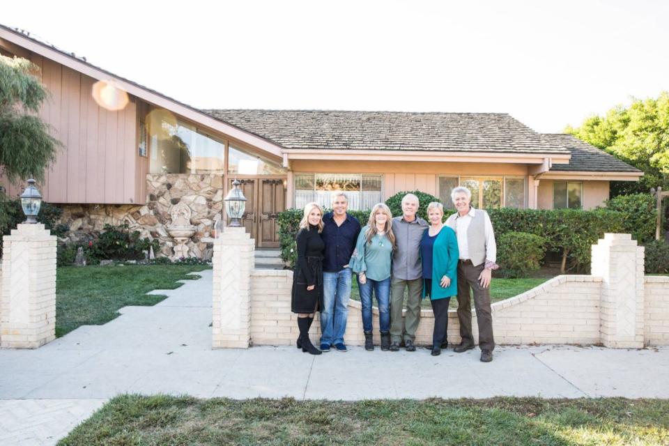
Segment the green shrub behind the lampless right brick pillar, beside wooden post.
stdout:
<svg viewBox="0 0 669 446">
<path fill-rule="evenodd" d="M 651 194 L 619 195 L 605 201 L 608 210 L 616 210 L 625 215 L 623 231 L 631 233 L 639 244 L 655 237 L 657 217 L 656 200 Z"/>
</svg>

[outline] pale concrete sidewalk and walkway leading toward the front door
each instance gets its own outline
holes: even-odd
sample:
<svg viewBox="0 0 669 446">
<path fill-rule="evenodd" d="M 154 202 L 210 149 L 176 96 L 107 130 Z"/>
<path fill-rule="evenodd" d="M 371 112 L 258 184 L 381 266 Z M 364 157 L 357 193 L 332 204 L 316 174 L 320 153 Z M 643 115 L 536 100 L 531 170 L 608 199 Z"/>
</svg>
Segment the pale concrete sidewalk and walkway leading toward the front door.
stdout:
<svg viewBox="0 0 669 446">
<path fill-rule="evenodd" d="M 36 351 L 0 350 L 0 445 L 54 444 L 119 393 L 295 399 L 537 396 L 669 398 L 669 348 L 498 347 L 414 353 L 295 347 L 211 350 L 211 279 L 184 281 L 154 307 L 125 307 Z M 22 415 L 16 415 L 17 413 Z M 37 426 L 37 427 L 36 427 Z M 41 426 L 41 427 L 40 427 Z M 60 426 L 60 430 L 56 429 Z"/>
</svg>

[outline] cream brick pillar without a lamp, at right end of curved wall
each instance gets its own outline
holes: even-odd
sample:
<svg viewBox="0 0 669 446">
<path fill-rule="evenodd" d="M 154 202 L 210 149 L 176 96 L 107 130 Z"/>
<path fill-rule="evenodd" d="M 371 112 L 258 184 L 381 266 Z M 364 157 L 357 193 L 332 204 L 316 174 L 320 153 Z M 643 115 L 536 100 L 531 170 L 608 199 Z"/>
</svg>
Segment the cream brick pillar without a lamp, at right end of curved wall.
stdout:
<svg viewBox="0 0 669 446">
<path fill-rule="evenodd" d="M 602 278 L 600 336 L 604 346 L 643 347 L 643 255 L 629 234 L 604 234 L 592 245 L 592 275 Z"/>
</svg>

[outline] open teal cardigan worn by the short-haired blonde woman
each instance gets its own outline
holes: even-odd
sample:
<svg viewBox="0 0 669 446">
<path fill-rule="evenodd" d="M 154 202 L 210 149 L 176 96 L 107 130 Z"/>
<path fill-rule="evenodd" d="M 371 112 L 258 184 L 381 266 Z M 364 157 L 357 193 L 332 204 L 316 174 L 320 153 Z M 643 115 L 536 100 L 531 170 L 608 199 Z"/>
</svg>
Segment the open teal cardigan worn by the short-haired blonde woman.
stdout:
<svg viewBox="0 0 669 446">
<path fill-rule="evenodd" d="M 458 293 L 458 239 L 455 231 L 444 225 L 432 247 L 432 289 L 430 299 L 445 299 Z M 441 278 L 448 276 L 451 284 L 447 288 L 440 286 Z M 423 281 L 423 297 L 425 282 Z"/>
</svg>

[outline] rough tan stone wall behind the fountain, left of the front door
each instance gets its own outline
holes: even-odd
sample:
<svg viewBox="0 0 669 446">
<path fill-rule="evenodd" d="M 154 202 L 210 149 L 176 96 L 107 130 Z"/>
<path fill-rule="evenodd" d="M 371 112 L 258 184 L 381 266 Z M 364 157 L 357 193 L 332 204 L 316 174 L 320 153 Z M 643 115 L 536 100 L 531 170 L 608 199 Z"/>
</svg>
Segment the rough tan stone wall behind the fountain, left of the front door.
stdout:
<svg viewBox="0 0 669 446">
<path fill-rule="evenodd" d="M 186 243 L 192 256 L 210 259 L 213 246 L 201 241 L 213 236 L 216 215 L 223 208 L 222 174 L 166 174 L 146 176 L 146 205 L 64 205 L 61 222 L 70 226 L 70 241 L 89 240 L 105 224 L 128 222 L 143 238 L 160 240 L 161 256 L 173 254 L 174 240 L 167 232 L 169 209 L 180 201 L 192 210 L 194 236 Z M 66 240 L 67 242 L 68 240 Z"/>
</svg>

